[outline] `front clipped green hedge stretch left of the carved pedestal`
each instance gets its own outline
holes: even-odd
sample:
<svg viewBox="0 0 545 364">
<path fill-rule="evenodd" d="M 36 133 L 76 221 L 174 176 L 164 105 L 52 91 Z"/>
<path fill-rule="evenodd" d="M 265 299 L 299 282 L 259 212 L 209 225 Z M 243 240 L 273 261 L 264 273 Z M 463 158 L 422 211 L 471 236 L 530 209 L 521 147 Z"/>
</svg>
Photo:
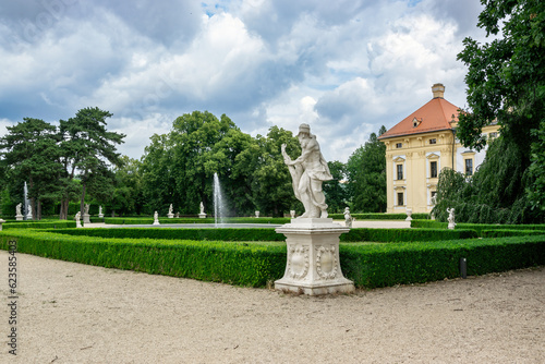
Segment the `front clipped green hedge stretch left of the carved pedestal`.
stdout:
<svg viewBox="0 0 545 364">
<path fill-rule="evenodd" d="M 36 230 L 0 232 L 0 248 L 152 275 L 264 287 L 283 275 L 286 246 L 225 242 L 71 236 Z"/>
</svg>

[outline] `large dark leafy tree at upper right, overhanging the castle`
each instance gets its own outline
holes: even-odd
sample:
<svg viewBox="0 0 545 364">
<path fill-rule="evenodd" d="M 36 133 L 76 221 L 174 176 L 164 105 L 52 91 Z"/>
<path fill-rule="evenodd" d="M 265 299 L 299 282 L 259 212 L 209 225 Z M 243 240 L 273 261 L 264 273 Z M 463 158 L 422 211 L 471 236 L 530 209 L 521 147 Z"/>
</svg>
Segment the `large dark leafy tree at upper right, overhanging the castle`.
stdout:
<svg viewBox="0 0 545 364">
<path fill-rule="evenodd" d="M 465 146 L 481 149 L 486 139 L 482 128 L 491 122 L 501 125 L 505 143 L 519 148 L 523 173 L 528 171 L 526 192 L 534 207 L 545 209 L 545 2 L 540 0 L 482 0 L 479 27 L 495 39 L 480 44 L 464 40 L 458 54 L 469 72 L 469 109 L 460 114 L 458 137 Z M 519 185 L 521 185 L 519 183 Z M 522 187 L 522 185 L 521 185 Z"/>
</svg>

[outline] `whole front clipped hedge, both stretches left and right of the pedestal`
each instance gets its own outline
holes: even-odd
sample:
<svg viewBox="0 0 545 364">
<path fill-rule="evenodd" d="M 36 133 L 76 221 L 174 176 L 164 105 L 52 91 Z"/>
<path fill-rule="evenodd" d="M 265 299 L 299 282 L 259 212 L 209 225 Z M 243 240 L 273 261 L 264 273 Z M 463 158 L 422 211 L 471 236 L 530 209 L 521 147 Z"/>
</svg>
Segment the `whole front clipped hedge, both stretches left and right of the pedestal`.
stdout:
<svg viewBox="0 0 545 364">
<path fill-rule="evenodd" d="M 264 243 L 73 236 L 37 230 L 0 232 L 0 248 L 17 240 L 17 251 L 50 258 L 264 287 L 286 267 L 286 246 Z M 545 235 L 398 244 L 340 245 L 341 269 L 356 287 L 417 283 L 545 264 Z"/>
</svg>

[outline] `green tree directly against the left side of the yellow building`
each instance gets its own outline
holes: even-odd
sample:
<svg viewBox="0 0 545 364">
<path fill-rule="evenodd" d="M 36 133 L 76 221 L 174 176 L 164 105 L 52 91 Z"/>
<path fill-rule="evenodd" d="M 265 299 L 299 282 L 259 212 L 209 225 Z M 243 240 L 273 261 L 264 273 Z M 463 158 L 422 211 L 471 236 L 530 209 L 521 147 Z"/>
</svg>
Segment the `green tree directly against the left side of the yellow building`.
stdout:
<svg viewBox="0 0 545 364">
<path fill-rule="evenodd" d="M 386 128 L 380 126 L 382 135 Z M 347 162 L 348 191 L 353 211 L 386 210 L 386 146 L 375 133 L 358 148 Z"/>
</svg>

